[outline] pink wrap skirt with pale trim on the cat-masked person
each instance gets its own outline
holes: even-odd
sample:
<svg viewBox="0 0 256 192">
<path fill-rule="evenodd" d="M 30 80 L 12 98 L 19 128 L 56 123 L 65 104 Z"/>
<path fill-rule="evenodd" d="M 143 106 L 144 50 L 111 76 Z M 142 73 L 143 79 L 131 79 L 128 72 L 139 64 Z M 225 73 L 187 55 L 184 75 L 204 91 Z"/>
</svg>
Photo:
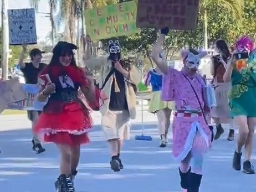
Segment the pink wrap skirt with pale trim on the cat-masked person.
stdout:
<svg viewBox="0 0 256 192">
<path fill-rule="evenodd" d="M 211 147 L 212 133 L 200 113 L 176 113 L 172 132 L 172 154 L 178 161 L 185 159 L 190 151 L 205 153 Z"/>
</svg>

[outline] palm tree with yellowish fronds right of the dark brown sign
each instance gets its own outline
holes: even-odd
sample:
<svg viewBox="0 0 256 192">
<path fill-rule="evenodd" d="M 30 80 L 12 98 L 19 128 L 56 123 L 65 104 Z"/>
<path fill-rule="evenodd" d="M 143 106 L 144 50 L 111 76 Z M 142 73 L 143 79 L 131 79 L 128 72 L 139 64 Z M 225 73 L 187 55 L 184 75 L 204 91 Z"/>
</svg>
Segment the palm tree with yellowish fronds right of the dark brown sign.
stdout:
<svg viewBox="0 0 256 192">
<path fill-rule="evenodd" d="M 237 19 L 239 22 L 242 19 L 243 13 L 243 0 L 201 0 L 199 4 L 199 9 L 203 14 L 203 27 L 204 27 L 204 49 L 208 49 L 208 7 L 211 4 L 216 6 L 221 6 L 226 8 L 227 11 L 231 13 L 231 16 Z"/>
</svg>

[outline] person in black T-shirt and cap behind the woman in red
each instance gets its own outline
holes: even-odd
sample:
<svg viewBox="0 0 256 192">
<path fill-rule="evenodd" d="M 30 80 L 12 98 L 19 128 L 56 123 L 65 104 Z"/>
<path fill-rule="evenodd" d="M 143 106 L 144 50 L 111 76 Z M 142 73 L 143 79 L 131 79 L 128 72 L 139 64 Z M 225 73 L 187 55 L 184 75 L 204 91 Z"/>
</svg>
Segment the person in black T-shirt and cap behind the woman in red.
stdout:
<svg viewBox="0 0 256 192">
<path fill-rule="evenodd" d="M 25 83 L 26 84 L 37 84 L 38 82 L 38 74 L 47 66 L 47 64 L 41 63 L 42 60 L 42 53 L 43 51 L 39 49 L 32 49 L 29 53 L 31 62 L 25 63 L 25 53 L 27 52 L 27 45 L 22 46 L 22 53 L 19 58 L 19 66 L 21 71 L 23 72 Z M 28 119 L 32 122 L 32 129 L 34 127 L 35 121 L 37 121 L 38 116 L 40 115 L 41 111 L 27 111 Z M 42 147 L 39 139 L 33 135 L 32 139 L 33 144 L 33 151 L 35 153 L 42 153 L 45 149 Z"/>
</svg>

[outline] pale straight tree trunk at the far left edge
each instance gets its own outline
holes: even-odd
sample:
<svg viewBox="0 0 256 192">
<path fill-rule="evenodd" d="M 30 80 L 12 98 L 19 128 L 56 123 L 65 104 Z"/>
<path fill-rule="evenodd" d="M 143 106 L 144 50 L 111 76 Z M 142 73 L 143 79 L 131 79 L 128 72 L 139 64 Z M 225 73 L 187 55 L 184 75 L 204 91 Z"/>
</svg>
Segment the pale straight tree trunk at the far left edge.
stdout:
<svg viewBox="0 0 256 192">
<path fill-rule="evenodd" d="M 2 79 L 8 79 L 8 54 L 9 54 L 9 34 L 8 34 L 8 17 L 7 17 L 7 2 L 2 0 Z"/>
</svg>

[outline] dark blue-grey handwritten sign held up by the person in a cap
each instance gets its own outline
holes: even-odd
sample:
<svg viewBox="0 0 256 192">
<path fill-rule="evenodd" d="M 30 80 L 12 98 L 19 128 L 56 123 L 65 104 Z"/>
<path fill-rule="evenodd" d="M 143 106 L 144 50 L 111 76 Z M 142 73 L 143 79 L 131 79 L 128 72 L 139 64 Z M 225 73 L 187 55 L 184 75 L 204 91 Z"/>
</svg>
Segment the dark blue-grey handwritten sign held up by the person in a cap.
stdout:
<svg viewBox="0 0 256 192">
<path fill-rule="evenodd" d="M 34 9 L 9 9 L 9 44 L 37 44 Z"/>
</svg>

